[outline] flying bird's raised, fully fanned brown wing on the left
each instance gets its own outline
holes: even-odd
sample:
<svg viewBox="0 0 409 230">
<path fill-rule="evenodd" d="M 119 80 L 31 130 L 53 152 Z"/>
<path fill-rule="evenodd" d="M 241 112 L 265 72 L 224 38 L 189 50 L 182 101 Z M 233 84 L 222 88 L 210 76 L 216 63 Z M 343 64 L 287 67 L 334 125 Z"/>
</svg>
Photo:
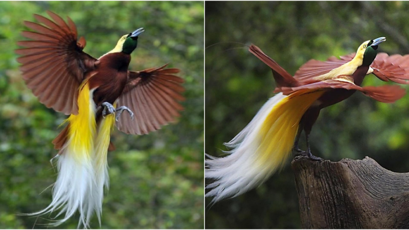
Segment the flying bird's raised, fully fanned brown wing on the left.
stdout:
<svg viewBox="0 0 409 230">
<path fill-rule="evenodd" d="M 23 31 L 28 41 L 18 41 L 23 49 L 17 61 L 27 86 L 48 108 L 65 114 L 78 114 L 78 87 L 84 73 L 95 68 L 98 60 L 82 52 L 85 39 L 77 41 L 77 28 L 68 17 L 68 24 L 57 14 L 47 11 L 53 20 L 34 14 L 43 25 L 30 21 L 24 24 L 33 31 Z"/>
</svg>

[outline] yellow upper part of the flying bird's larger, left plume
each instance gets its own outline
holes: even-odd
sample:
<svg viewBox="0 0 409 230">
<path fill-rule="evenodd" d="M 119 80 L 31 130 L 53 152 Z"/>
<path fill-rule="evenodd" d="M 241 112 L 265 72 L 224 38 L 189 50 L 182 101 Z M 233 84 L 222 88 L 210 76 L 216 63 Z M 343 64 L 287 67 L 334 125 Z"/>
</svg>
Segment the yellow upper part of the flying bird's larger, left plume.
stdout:
<svg viewBox="0 0 409 230">
<path fill-rule="evenodd" d="M 72 148 L 72 154 L 78 160 L 83 159 L 84 154 L 89 159 L 94 149 L 94 136 L 97 125 L 95 122 L 95 105 L 90 96 L 89 85 L 85 83 L 80 87 L 78 95 L 78 114 L 71 114 L 66 120 L 70 123 L 69 148 Z"/>
</svg>

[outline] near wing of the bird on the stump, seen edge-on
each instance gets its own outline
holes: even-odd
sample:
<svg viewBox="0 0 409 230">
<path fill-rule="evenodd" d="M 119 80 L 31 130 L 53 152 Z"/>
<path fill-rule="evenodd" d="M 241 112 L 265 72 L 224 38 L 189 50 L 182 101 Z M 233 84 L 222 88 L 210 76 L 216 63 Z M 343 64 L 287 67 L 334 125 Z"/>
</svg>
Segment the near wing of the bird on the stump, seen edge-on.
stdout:
<svg viewBox="0 0 409 230">
<path fill-rule="evenodd" d="M 352 76 L 343 75 L 335 79 L 315 82 L 298 87 L 282 87 L 281 90 L 284 95 L 290 95 L 298 90 L 306 90 L 308 92 L 313 90 L 327 90 L 343 88 L 347 90 L 358 90 L 363 94 L 384 103 L 392 103 L 401 99 L 405 94 L 405 89 L 398 85 L 382 85 L 382 86 L 364 86 L 360 87 L 353 83 Z"/>
</svg>

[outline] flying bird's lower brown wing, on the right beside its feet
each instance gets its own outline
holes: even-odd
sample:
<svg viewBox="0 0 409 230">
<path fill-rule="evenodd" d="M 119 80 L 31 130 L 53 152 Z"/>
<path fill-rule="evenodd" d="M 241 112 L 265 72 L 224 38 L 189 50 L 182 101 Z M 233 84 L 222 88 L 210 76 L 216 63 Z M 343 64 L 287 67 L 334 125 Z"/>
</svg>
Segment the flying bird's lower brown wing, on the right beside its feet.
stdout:
<svg viewBox="0 0 409 230">
<path fill-rule="evenodd" d="M 179 101 L 185 100 L 180 94 L 184 82 L 174 74 L 177 68 L 149 68 L 141 72 L 128 72 L 128 82 L 118 99 L 117 107 L 126 106 L 134 113 L 134 120 L 122 114 L 117 122 L 118 129 L 128 134 L 147 134 L 160 129 L 162 125 L 179 117 L 183 110 Z"/>
</svg>

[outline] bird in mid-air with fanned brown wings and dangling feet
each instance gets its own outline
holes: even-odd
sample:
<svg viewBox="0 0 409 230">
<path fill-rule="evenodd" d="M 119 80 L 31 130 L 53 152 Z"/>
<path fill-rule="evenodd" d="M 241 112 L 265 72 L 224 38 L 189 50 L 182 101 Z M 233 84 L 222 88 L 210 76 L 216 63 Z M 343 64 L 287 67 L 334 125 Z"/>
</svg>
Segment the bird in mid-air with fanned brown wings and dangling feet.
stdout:
<svg viewBox="0 0 409 230">
<path fill-rule="evenodd" d="M 58 176 L 53 200 L 42 215 L 58 210 L 59 225 L 78 210 L 81 224 L 89 226 L 93 213 L 101 224 L 104 187 L 109 184 L 107 151 L 114 126 L 128 134 L 147 134 L 174 121 L 183 107 L 179 101 L 184 82 L 166 65 L 140 72 L 128 71 L 131 53 L 143 28 L 122 36 L 115 48 L 96 59 L 82 50 L 74 22 L 48 11 L 51 19 L 34 14 L 40 22 L 24 21 L 31 40 L 18 41 L 17 61 L 27 86 L 48 108 L 70 115 L 53 141 L 58 149 Z M 127 111 L 129 114 L 121 113 Z"/>
</svg>

